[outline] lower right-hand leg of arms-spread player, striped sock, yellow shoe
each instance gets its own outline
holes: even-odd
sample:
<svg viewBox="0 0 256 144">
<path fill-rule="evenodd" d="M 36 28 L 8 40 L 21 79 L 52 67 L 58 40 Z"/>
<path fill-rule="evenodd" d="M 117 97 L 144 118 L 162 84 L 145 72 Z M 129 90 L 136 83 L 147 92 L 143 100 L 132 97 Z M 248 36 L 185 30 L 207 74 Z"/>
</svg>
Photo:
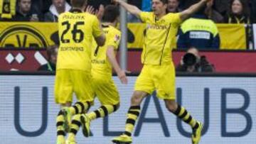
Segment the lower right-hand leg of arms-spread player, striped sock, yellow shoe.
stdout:
<svg viewBox="0 0 256 144">
<path fill-rule="evenodd" d="M 182 107 L 179 106 L 175 100 L 172 99 L 165 99 L 166 108 L 171 111 L 171 113 L 174 113 L 178 118 L 181 118 L 181 120 L 185 123 L 188 123 L 188 125 L 192 128 L 192 143 L 198 144 L 201 139 L 201 131 L 203 129 L 203 124 L 199 121 L 196 121 L 195 118 L 191 116 L 188 111 Z"/>
</svg>

